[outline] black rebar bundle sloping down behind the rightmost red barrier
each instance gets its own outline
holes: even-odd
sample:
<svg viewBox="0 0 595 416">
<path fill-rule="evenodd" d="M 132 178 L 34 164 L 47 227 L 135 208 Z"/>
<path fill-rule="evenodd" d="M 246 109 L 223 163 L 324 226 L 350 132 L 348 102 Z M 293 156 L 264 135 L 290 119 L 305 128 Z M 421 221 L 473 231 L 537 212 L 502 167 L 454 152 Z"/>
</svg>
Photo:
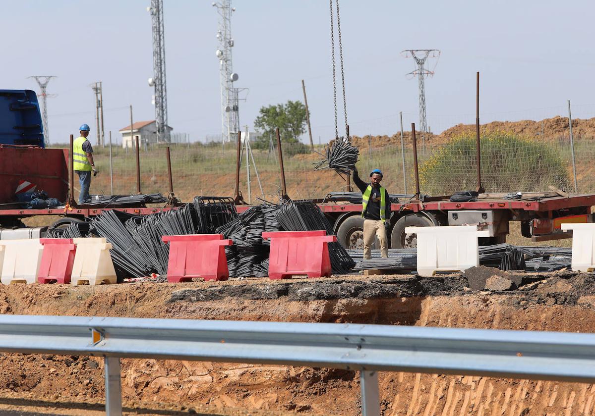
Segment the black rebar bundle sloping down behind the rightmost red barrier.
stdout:
<svg viewBox="0 0 595 416">
<path fill-rule="evenodd" d="M 327 235 L 335 235 L 333 227 L 320 208 L 309 201 L 293 201 L 284 204 L 275 212 L 275 218 L 284 231 L 324 230 Z M 328 243 L 328 255 L 333 273 L 349 273 L 355 265 L 339 242 Z"/>
</svg>

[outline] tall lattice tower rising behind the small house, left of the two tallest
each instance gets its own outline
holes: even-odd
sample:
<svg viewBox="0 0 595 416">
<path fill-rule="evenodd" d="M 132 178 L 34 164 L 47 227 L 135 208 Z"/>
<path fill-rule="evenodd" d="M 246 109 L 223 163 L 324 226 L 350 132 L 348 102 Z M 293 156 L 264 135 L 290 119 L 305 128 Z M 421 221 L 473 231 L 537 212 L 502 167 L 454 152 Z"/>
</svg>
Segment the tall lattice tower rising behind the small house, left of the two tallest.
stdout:
<svg viewBox="0 0 595 416">
<path fill-rule="evenodd" d="M 153 103 L 155 105 L 155 124 L 157 142 L 170 141 L 167 128 L 167 87 L 165 86 L 165 31 L 163 23 L 163 0 L 151 0 L 147 8 L 151 13 L 153 31 L 153 77 L 149 86 L 155 87 Z"/>
</svg>

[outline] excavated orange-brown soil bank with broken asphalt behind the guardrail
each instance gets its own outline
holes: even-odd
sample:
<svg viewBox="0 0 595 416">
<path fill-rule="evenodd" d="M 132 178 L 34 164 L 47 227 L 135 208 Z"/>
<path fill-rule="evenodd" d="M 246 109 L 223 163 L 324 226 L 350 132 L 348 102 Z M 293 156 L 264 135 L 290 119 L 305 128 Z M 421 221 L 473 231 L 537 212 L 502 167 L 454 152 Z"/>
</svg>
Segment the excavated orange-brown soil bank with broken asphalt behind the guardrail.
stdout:
<svg viewBox="0 0 595 416">
<path fill-rule="evenodd" d="M 11 285 L 0 286 L 0 313 L 593 331 L 593 275 L 521 275 L 519 289 L 508 292 L 471 291 L 459 275 Z M 104 401 L 102 370 L 98 358 L 2 354 L 0 405 L 26 399 L 75 408 L 55 414 L 98 414 Z M 361 411 L 358 375 L 345 370 L 123 360 L 122 377 L 130 414 Z M 580 383 L 380 373 L 380 392 L 384 415 L 595 413 L 595 385 Z"/>
</svg>

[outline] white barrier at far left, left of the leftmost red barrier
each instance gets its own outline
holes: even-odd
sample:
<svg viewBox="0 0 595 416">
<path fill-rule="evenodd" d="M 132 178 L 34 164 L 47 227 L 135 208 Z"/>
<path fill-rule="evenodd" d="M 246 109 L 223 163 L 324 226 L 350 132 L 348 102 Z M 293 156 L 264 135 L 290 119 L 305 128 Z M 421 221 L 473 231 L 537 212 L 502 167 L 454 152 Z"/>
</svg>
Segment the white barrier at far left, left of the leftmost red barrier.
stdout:
<svg viewBox="0 0 595 416">
<path fill-rule="evenodd" d="M 37 271 L 43 253 L 39 238 L 1 240 L 0 245 L 4 248 L 4 256 L 0 261 L 2 283 L 37 283 Z"/>
</svg>

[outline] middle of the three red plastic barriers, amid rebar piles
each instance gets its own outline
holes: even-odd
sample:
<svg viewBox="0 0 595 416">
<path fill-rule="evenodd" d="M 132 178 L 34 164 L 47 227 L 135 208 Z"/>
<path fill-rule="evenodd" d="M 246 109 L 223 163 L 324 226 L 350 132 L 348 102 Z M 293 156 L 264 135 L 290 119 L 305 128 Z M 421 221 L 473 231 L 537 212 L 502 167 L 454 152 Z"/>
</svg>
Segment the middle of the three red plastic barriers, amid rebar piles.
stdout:
<svg viewBox="0 0 595 416">
<path fill-rule="evenodd" d="M 190 282 L 192 278 L 201 277 L 205 281 L 229 278 L 224 246 L 231 245 L 230 239 L 223 239 L 221 234 L 164 235 L 161 239 L 170 243 L 168 282 Z"/>
</svg>

